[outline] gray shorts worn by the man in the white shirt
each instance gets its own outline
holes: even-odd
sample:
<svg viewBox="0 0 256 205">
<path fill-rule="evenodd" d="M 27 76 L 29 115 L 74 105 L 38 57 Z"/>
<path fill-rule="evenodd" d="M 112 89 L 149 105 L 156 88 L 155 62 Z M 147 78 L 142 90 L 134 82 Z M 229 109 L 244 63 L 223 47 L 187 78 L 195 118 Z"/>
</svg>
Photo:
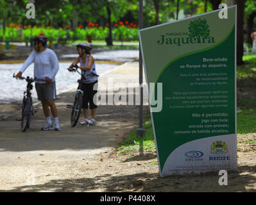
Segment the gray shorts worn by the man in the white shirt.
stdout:
<svg viewBox="0 0 256 205">
<path fill-rule="evenodd" d="M 51 83 L 35 83 L 39 101 L 56 100 L 55 81 Z"/>
</svg>

